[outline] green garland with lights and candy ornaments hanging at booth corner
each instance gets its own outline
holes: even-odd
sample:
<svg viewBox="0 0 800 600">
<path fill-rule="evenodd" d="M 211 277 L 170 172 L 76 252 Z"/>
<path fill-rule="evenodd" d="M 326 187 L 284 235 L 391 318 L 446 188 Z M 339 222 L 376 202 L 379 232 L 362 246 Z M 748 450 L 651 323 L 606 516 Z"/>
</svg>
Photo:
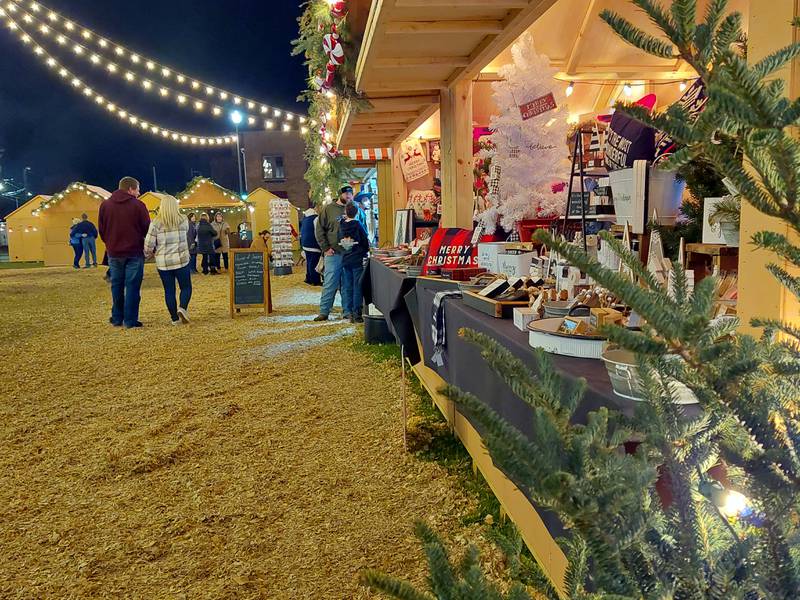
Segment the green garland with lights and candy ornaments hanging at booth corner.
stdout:
<svg viewBox="0 0 800 600">
<path fill-rule="evenodd" d="M 352 161 L 342 154 L 329 156 L 324 147 L 321 126 L 325 124 L 328 139 L 336 138 L 333 124 L 326 119 L 328 114 L 343 115 L 348 111 L 362 110 L 368 103 L 355 90 L 355 61 L 352 37 L 347 17 L 335 19 L 331 15 L 327 0 L 309 0 L 303 14 L 298 19 L 299 37 L 292 42 L 292 55 L 303 55 L 308 67 L 308 89 L 298 98 L 309 103 L 310 126 L 306 133 L 305 158 L 308 169 L 305 179 L 311 188 L 311 199 L 321 204 L 333 197 L 335 190 L 355 177 Z M 337 67 L 331 87 L 333 95 L 321 92 L 314 80 L 325 76 L 328 57 L 322 47 L 326 34 L 336 26 L 340 42 L 345 50 L 344 63 Z"/>
</svg>

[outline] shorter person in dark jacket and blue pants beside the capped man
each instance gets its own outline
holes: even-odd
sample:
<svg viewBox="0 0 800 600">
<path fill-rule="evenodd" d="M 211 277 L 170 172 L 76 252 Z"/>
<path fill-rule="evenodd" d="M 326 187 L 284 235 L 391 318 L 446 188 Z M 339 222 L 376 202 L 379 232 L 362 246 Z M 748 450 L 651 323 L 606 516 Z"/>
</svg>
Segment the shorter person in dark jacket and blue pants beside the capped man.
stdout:
<svg viewBox="0 0 800 600">
<path fill-rule="evenodd" d="M 351 323 L 363 323 L 361 276 L 364 274 L 364 259 L 369 253 L 369 238 L 358 220 L 358 206 L 354 202 L 347 203 L 344 214 L 344 220 L 339 224 L 339 244 L 345 251 L 342 256 L 344 318 L 349 318 Z"/>
</svg>

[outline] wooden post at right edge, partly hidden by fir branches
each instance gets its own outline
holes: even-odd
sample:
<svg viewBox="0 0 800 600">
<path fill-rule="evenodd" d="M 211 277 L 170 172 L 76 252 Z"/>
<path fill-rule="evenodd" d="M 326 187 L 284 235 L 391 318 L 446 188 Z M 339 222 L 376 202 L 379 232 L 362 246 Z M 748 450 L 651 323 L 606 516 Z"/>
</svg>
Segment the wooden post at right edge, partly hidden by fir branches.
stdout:
<svg viewBox="0 0 800 600">
<path fill-rule="evenodd" d="M 794 0 L 774 0 L 763 2 L 750 0 L 750 26 L 748 32 L 747 59 L 752 64 L 776 50 L 797 41 L 792 20 L 800 15 Z M 784 79 L 789 97 L 797 98 L 800 92 L 800 62 L 794 60 L 775 76 Z M 753 317 L 765 317 L 797 323 L 800 305 L 797 299 L 786 290 L 777 279 L 766 271 L 770 263 L 777 263 L 788 269 L 786 261 L 774 253 L 753 250 L 750 239 L 758 231 L 777 231 L 798 243 L 797 236 L 791 234 L 790 227 L 778 219 L 767 217 L 747 202 L 742 202 L 742 225 L 740 239 L 742 252 L 739 254 L 739 317 L 745 333 L 755 333 L 750 326 Z M 750 246 L 749 248 L 747 246 Z M 792 271 L 790 269 L 790 271 Z"/>
</svg>

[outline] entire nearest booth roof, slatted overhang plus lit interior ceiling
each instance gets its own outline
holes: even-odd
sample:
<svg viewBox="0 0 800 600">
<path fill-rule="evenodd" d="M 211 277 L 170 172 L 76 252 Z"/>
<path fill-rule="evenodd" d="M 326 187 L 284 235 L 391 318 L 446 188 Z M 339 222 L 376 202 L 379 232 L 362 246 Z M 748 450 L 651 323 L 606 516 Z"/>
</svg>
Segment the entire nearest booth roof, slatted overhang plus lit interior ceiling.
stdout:
<svg viewBox="0 0 800 600">
<path fill-rule="evenodd" d="M 698 14 L 708 1 L 698 1 Z M 747 0 L 729 3 L 745 23 L 747 7 Z M 496 80 L 526 30 L 559 70 L 562 83 L 554 85 L 575 83 L 569 112 L 577 117 L 604 112 L 626 82 L 632 97 L 654 92 L 660 106 L 674 102 L 680 81 L 695 76 L 691 68 L 625 43 L 599 18 L 604 9 L 655 33 L 629 0 L 374 0 L 356 71 L 373 108 L 343 115 L 340 148 L 390 147 L 411 135 L 438 109 L 441 88 L 465 78 Z M 479 112 L 491 109 L 489 101 Z"/>
</svg>

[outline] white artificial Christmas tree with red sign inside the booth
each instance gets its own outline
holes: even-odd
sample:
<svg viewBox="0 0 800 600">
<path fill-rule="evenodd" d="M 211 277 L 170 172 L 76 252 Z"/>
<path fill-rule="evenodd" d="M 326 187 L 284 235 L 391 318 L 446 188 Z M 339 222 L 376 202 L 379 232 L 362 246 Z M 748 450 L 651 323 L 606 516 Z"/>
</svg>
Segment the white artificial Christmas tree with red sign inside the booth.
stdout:
<svg viewBox="0 0 800 600">
<path fill-rule="evenodd" d="M 480 215 L 488 233 L 499 223 L 511 230 L 523 219 L 563 214 L 566 190 L 553 185 L 567 181 L 566 95 L 553 79 L 556 71 L 546 56 L 536 53 L 533 37 L 525 34 L 511 49 L 513 64 L 500 69 L 503 81 L 492 85 L 500 114 L 493 116 L 492 141 L 497 145 L 493 164 L 500 166 L 500 193 L 490 195 L 492 206 Z M 523 120 L 520 105 L 552 93 L 557 108 Z"/>
</svg>

